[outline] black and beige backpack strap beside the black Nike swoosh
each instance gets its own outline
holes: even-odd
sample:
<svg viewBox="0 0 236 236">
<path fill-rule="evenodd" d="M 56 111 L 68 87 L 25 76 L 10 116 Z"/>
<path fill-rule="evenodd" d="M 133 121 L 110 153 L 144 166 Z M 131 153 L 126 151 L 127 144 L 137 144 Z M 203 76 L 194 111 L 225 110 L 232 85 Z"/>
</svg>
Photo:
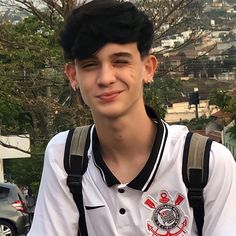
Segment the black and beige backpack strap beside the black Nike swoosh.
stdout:
<svg viewBox="0 0 236 236">
<path fill-rule="evenodd" d="M 82 177 L 88 166 L 87 150 L 89 146 L 90 126 L 69 130 L 64 153 L 64 168 L 68 174 L 67 185 L 79 211 L 78 235 L 88 236 L 85 221 Z"/>
</svg>

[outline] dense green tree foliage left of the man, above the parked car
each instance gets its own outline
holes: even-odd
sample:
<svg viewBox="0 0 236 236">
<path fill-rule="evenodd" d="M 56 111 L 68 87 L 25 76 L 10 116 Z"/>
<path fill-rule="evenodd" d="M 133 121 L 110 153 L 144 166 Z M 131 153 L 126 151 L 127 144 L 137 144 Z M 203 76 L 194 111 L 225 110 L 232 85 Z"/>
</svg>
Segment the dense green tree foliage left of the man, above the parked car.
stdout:
<svg viewBox="0 0 236 236">
<path fill-rule="evenodd" d="M 61 114 L 74 114 L 61 103 L 68 90 L 61 73 L 62 52 L 54 31 L 33 16 L 18 24 L 2 22 L 0 35 L 1 134 L 29 133 L 32 150 L 31 159 L 4 161 L 5 172 L 20 185 L 33 181 L 37 186 L 43 150 L 57 132 L 55 118 L 58 123 Z"/>
</svg>

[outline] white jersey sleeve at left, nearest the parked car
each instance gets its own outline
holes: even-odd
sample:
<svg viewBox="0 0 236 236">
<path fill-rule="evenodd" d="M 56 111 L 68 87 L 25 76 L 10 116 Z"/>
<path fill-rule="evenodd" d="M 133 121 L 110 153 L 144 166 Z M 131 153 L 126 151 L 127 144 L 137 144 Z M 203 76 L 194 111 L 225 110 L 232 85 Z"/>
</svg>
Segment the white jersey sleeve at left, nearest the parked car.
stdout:
<svg viewBox="0 0 236 236">
<path fill-rule="evenodd" d="M 27 236 L 77 236 L 79 213 L 66 184 L 63 163 L 67 134 L 56 135 L 46 148 L 33 224 Z"/>
</svg>

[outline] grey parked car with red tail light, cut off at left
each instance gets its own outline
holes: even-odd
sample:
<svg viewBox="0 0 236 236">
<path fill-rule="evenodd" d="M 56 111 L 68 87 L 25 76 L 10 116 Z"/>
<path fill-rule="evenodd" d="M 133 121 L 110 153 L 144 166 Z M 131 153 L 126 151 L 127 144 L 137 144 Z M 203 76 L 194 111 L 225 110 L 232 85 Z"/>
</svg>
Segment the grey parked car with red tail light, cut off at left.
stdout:
<svg viewBox="0 0 236 236">
<path fill-rule="evenodd" d="M 24 195 L 15 184 L 0 183 L 0 235 L 24 234 L 29 227 Z"/>
</svg>

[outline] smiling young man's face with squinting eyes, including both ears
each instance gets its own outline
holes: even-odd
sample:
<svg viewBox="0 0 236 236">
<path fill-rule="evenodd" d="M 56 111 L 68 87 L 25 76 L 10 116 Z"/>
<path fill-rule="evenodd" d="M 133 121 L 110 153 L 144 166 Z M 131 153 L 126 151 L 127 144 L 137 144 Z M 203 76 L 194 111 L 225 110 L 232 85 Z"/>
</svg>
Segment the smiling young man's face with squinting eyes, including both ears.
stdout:
<svg viewBox="0 0 236 236">
<path fill-rule="evenodd" d="M 155 69 L 156 59 L 141 58 L 136 43 L 109 43 L 66 71 L 94 118 L 115 118 L 143 108 L 143 83 L 152 79 Z"/>
</svg>

